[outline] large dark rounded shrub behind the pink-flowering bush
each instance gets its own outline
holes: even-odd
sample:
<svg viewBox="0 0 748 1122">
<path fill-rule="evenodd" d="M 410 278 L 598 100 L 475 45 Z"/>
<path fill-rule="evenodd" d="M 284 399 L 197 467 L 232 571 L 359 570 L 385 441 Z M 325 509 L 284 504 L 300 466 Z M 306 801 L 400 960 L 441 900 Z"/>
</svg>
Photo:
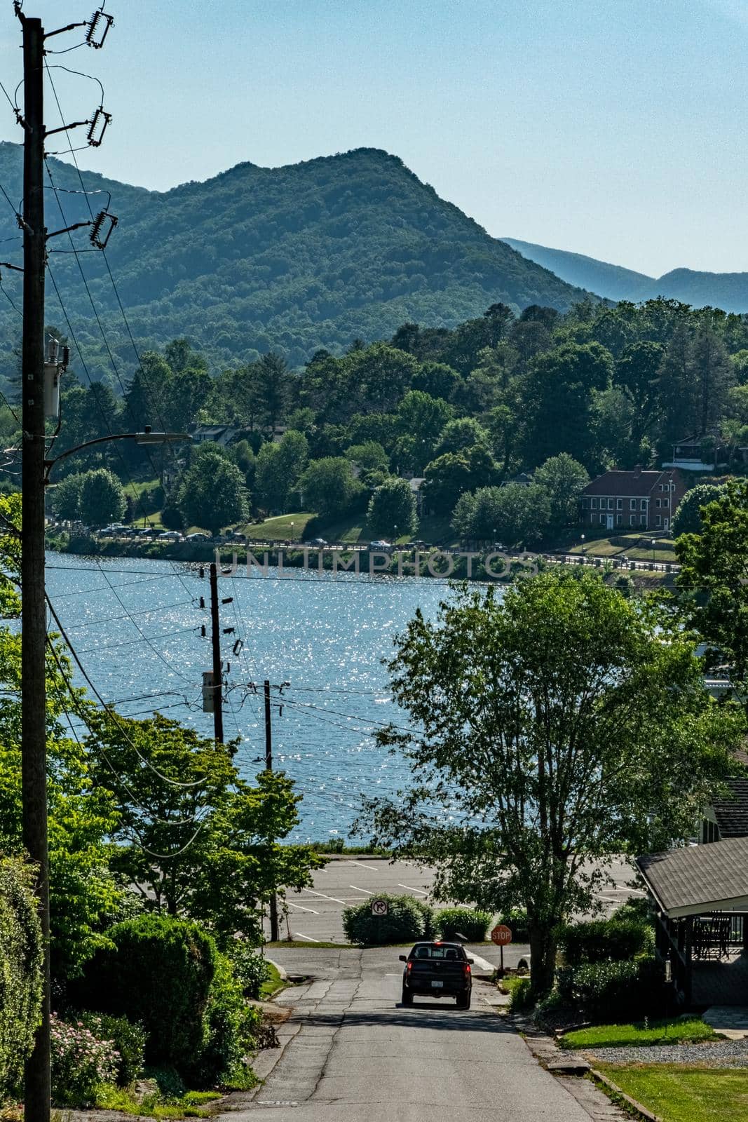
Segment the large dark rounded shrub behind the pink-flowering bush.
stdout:
<svg viewBox="0 0 748 1122">
<path fill-rule="evenodd" d="M 113 945 L 96 951 L 74 983 L 76 1004 L 142 1023 L 146 1060 L 194 1064 L 205 1043 L 204 1014 L 218 951 L 197 923 L 167 916 L 141 916 L 116 923 Z"/>
</svg>

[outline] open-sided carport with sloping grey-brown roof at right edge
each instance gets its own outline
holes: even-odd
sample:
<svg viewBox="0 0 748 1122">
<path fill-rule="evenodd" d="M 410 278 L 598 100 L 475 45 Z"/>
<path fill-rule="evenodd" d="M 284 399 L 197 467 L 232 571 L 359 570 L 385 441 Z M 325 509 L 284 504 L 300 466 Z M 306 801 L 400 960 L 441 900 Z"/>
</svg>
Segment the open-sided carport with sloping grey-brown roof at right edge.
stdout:
<svg viewBox="0 0 748 1122">
<path fill-rule="evenodd" d="M 637 857 L 655 948 L 685 1005 L 748 1005 L 748 837 Z"/>
</svg>

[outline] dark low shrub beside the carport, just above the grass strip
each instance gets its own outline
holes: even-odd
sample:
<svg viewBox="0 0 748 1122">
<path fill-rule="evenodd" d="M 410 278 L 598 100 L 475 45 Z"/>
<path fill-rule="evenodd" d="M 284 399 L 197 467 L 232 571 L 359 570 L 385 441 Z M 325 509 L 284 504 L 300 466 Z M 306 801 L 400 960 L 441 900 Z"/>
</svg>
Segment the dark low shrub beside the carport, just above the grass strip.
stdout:
<svg viewBox="0 0 748 1122">
<path fill-rule="evenodd" d="M 636 1020 L 663 1005 L 664 977 L 654 958 L 585 963 L 558 971 L 558 994 L 592 1021 Z"/>
</svg>

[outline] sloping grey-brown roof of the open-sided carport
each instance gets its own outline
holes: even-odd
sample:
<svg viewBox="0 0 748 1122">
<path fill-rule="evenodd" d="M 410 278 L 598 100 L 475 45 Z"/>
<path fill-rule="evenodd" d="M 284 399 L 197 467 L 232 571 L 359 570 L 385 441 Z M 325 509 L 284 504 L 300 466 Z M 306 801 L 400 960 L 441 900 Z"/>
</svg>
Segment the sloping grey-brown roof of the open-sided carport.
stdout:
<svg viewBox="0 0 748 1122">
<path fill-rule="evenodd" d="M 748 910 L 748 837 L 650 853 L 636 864 L 671 919 Z"/>
</svg>

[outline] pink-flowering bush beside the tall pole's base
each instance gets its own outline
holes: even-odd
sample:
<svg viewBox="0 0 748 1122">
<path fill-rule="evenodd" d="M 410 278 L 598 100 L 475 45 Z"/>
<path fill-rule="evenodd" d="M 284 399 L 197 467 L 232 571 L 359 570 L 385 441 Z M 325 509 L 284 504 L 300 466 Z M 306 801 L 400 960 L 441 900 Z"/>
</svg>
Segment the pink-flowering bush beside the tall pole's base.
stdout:
<svg viewBox="0 0 748 1122">
<path fill-rule="evenodd" d="M 66 1023 L 52 1014 L 52 1094 L 62 1106 L 86 1106 L 102 1083 L 114 1083 L 120 1054 L 82 1021 Z"/>
</svg>

